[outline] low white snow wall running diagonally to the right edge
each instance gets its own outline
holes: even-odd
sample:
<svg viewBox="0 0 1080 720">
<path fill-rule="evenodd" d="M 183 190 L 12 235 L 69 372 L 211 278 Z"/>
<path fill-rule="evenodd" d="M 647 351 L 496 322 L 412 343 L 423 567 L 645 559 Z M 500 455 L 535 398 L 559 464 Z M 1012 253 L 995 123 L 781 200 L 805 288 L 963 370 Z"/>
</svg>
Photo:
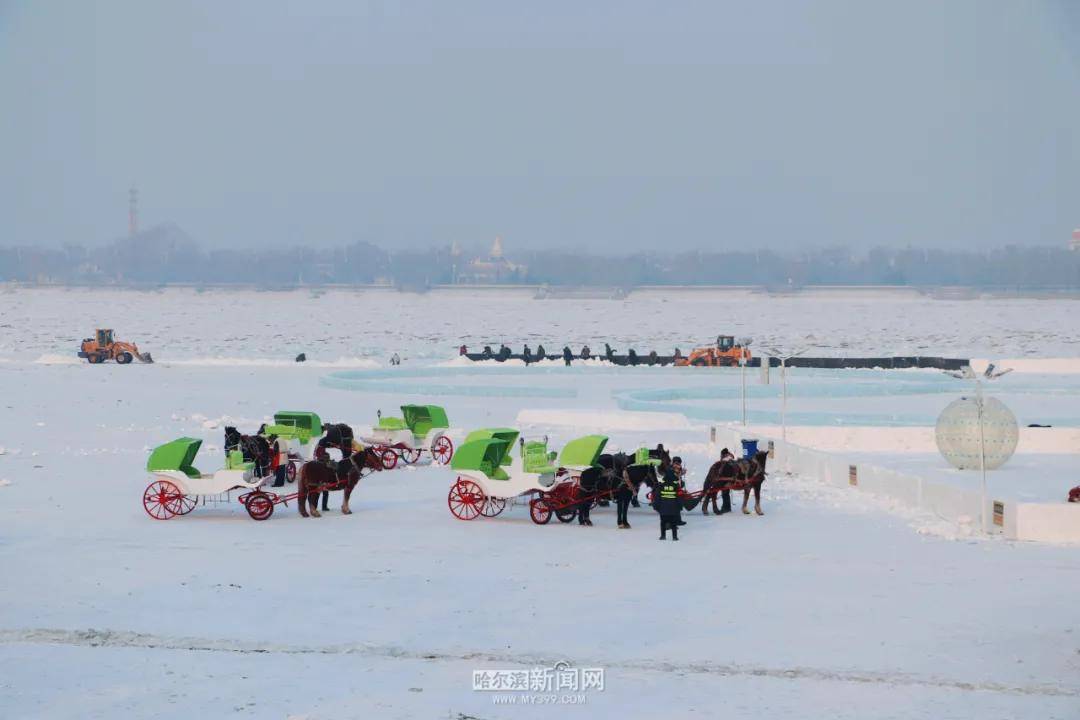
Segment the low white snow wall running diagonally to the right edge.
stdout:
<svg viewBox="0 0 1080 720">
<path fill-rule="evenodd" d="M 865 462 L 849 462 L 841 454 L 768 438 L 752 429 L 718 426 L 715 431 L 717 447 L 739 447 L 744 437 L 757 438 L 762 448 L 771 441 L 772 468 L 850 488 L 853 492 L 889 498 L 905 507 L 932 513 L 948 521 L 969 526 L 976 532 L 978 530 L 980 492 Z M 989 495 L 986 499 L 986 518 L 991 534 L 1010 540 L 1080 543 L 1080 503 L 1028 503 Z"/>
</svg>

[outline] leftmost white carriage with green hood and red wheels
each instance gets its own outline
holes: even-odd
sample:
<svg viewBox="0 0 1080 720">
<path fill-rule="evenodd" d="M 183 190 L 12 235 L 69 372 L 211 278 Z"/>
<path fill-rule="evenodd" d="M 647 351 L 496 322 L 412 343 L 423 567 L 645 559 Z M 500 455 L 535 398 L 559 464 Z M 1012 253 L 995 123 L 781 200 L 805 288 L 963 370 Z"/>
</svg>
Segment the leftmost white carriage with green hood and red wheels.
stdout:
<svg viewBox="0 0 1080 720">
<path fill-rule="evenodd" d="M 255 477 L 255 463 L 244 462 L 244 453 L 232 450 L 226 456 L 226 466 L 207 475 L 193 465 L 201 446 L 198 438 L 179 437 L 153 449 L 146 463 L 153 479 L 143 492 L 147 515 L 167 520 L 187 515 L 200 502 L 228 502 L 232 490 L 243 490 L 249 493 L 243 501 L 248 514 L 260 519 L 257 516 L 266 508 L 252 507 L 252 503 L 266 502 L 262 500 L 266 493 L 251 491 L 257 490 L 267 478 Z"/>
</svg>

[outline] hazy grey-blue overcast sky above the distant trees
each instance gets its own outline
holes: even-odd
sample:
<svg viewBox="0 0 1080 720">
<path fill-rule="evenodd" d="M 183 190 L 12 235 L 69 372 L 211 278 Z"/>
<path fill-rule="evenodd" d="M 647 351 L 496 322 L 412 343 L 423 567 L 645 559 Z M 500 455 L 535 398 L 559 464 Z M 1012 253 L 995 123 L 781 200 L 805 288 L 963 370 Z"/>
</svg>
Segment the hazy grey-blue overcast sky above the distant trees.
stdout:
<svg viewBox="0 0 1080 720">
<path fill-rule="evenodd" d="M 0 0 L 0 245 L 1065 244 L 1080 0 Z"/>
</svg>

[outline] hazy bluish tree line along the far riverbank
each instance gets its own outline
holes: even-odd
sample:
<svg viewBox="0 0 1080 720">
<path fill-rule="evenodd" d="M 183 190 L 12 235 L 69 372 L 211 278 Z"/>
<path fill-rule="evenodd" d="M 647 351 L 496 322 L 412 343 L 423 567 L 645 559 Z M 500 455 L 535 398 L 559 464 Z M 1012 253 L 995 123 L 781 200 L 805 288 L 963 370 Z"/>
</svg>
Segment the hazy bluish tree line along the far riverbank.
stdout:
<svg viewBox="0 0 1080 720">
<path fill-rule="evenodd" d="M 597 256 L 535 250 L 509 283 L 630 288 L 643 285 L 910 285 L 1078 288 L 1080 253 L 1057 247 L 990 250 L 876 248 L 851 252 L 683 252 Z M 91 285 L 382 283 L 422 290 L 454 283 L 469 255 L 448 246 L 391 252 L 357 242 L 337 248 L 204 249 L 175 226 L 104 247 L 0 247 L 0 281 Z"/>
</svg>

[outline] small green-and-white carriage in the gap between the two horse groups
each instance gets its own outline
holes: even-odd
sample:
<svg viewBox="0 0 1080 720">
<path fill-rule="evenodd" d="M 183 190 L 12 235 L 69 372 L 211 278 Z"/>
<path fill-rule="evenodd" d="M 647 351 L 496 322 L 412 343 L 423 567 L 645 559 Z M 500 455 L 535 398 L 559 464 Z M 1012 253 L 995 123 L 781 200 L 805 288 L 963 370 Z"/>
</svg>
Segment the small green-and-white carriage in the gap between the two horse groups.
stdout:
<svg viewBox="0 0 1080 720">
<path fill-rule="evenodd" d="M 450 462 L 454 443 L 446 435 L 450 423 L 446 410 L 437 405 L 403 405 L 402 417 L 386 417 L 379 412 L 379 422 L 372 434 L 361 440 L 372 446 L 382 458 L 382 466 L 393 470 L 401 460 L 406 465 L 430 452 L 440 465 Z"/>
</svg>

